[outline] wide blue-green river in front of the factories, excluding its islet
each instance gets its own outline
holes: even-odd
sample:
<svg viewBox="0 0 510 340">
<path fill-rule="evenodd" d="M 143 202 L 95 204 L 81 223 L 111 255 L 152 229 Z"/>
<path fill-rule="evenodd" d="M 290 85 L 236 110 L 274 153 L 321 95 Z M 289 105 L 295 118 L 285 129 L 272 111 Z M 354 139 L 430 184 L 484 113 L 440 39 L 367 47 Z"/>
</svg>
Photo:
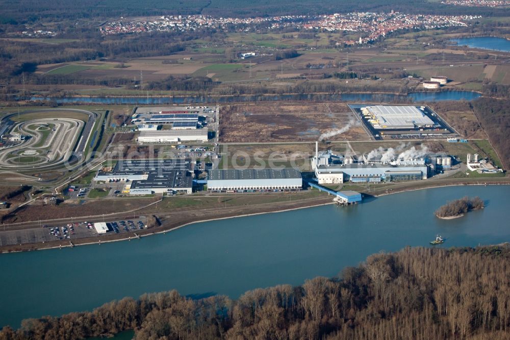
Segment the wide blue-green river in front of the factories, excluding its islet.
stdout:
<svg viewBox="0 0 510 340">
<path fill-rule="evenodd" d="M 433 212 L 448 200 L 480 196 L 486 208 L 455 220 Z M 0 255 L 0 327 L 22 319 L 91 310 L 125 296 L 177 289 L 225 294 L 337 275 L 368 255 L 406 246 L 510 241 L 510 186 L 452 186 L 335 205 L 196 223 L 103 245 Z"/>
</svg>

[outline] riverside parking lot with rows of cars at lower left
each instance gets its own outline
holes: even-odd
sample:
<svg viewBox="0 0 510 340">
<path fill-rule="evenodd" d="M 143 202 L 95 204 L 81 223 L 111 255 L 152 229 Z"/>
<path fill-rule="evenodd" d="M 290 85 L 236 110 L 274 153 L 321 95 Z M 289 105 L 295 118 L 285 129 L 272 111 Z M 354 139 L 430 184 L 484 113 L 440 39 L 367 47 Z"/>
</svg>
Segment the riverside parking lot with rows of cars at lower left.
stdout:
<svg viewBox="0 0 510 340">
<path fill-rule="evenodd" d="M 41 225 L 40 228 L 9 230 L 8 225 L 0 229 L 0 247 L 8 245 L 19 245 L 35 242 L 49 242 L 61 240 L 63 244 L 72 242 L 73 239 L 99 236 L 94 228 L 94 222 L 83 221 L 69 222 L 59 225 Z M 125 220 L 106 222 L 109 231 L 107 234 L 133 233 L 146 228 L 146 219 L 143 216 L 138 218 L 126 218 Z"/>
</svg>

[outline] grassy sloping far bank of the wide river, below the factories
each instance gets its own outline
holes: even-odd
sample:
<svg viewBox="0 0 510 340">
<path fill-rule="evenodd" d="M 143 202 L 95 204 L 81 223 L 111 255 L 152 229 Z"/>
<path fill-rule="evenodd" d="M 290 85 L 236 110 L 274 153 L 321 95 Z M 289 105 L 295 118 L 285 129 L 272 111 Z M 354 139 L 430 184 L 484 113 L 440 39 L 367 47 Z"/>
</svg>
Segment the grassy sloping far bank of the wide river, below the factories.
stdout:
<svg viewBox="0 0 510 340">
<path fill-rule="evenodd" d="M 466 181 L 466 180 L 455 180 L 455 182 L 447 182 L 442 183 L 441 185 L 436 185 L 437 183 L 405 183 L 401 187 L 396 187 L 393 189 L 387 189 L 384 192 L 376 193 L 364 193 L 365 199 L 370 197 L 384 197 L 387 195 L 392 195 L 394 193 L 401 193 L 405 191 L 416 191 L 430 188 L 440 188 L 445 186 L 465 186 L 465 185 L 479 185 L 479 186 L 487 186 L 487 185 L 508 185 L 510 184 L 510 179 L 495 179 L 496 181 L 491 181 L 490 179 L 482 179 L 474 181 Z M 416 187 L 419 185 L 420 187 Z M 241 194 L 242 195 L 242 194 Z M 274 212 L 284 212 L 291 211 L 303 208 L 312 208 L 322 205 L 330 205 L 334 204 L 331 196 L 323 196 L 321 198 L 311 198 L 311 199 L 302 199 L 299 201 L 290 201 L 290 202 L 276 202 L 276 203 L 264 203 L 264 204 L 256 204 L 251 206 L 239 206 L 239 207 L 231 207 L 226 209 L 217 209 L 217 208 L 207 208 L 200 210 L 184 210 L 184 211 L 175 211 L 175 212 L 157 212 L 157 211 L 148 211 L 147 213 L 154 213 L 158 215 L 162 220 L 162 225 L 159 227 L 148 228 L 145 230 L 137 231 L 130 236 L 125 236 L 122 234 L 112 234 L 106 236 L 96 236 L 96 237 L 86 237 L 86 238 L 78 238 L 73 239 L 71 242 L 63 244 L 62 241 L 52 241 L 46 243 L 35 243 L 35 244 L 21 244 L 21 245 L 10 245 L 0 247 L 1 253 L 12 253 L 12 252 L 23 252 L 23 251 L 33 251 L 33 250 L 44 250 L 44 249 L 62 249 L 69 248 L 75 246 L 86 246 L 86 245 L 95 245 L 95 244 L 105 244 L 110 242 L 117 241 L 131 241 L 137 238 L 142 238 L 145 236 L 156 235 L 156 234 L 165 234 L 167 232 L 171 232 L 173 230 L 177 230 L 191 224 L 202 223 L 202 222 L 211 222 L 217 220 L 225 220 L 235 217 L 244 217 L 244 216 L 254 216 L 261 215 L 267 213 Z M 145 212 L 144 212 L 145 213 Z M 100 238 L 99 238 L 100 237 Z"/>
</svg>

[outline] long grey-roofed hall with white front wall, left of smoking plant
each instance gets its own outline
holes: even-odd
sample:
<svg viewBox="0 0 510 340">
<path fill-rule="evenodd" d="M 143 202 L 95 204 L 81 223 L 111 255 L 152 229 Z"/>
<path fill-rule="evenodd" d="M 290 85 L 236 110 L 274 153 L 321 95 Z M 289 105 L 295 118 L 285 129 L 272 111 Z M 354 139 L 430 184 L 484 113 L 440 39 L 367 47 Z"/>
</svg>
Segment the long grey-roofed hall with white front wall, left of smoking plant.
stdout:
<svg viewBox="0 0 510 340">
<path fill-rule="evenodd" d="M 294 168 L 215 169 L 209 171 L 207 189 L 226 192 L 300 190 L 301 172 Z"/>
</svg>

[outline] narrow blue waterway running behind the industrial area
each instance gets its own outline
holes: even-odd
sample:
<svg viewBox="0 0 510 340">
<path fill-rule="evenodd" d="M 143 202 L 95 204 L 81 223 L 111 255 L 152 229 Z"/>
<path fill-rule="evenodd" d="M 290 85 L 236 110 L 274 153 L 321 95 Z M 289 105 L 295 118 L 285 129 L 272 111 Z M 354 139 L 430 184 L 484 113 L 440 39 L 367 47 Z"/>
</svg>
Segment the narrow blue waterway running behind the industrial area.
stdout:
<svg viewBox="0 0 510 340">
<path fill-rule="evenodd" d="M 169 104 L 225 104 L 238 102 L 258 101 L 344 101 L 344 102 L 439 102 L 456 100 L 473 100 L 480 96 L 472 91 L 438 91 L 438 92 L 413 92 L 407 95 L 393 93 L 323 93 L 323 94 L 281 94 L 281 95 L 229 95 L 229 96 L 165 96 L 165 97 L 86 97 L 68 96 L 65 98 L 32 97 L 31 101 L 54 100 L 58 104 L 116 104 L 116 105 L 169 105 Z"/>
</svg>

